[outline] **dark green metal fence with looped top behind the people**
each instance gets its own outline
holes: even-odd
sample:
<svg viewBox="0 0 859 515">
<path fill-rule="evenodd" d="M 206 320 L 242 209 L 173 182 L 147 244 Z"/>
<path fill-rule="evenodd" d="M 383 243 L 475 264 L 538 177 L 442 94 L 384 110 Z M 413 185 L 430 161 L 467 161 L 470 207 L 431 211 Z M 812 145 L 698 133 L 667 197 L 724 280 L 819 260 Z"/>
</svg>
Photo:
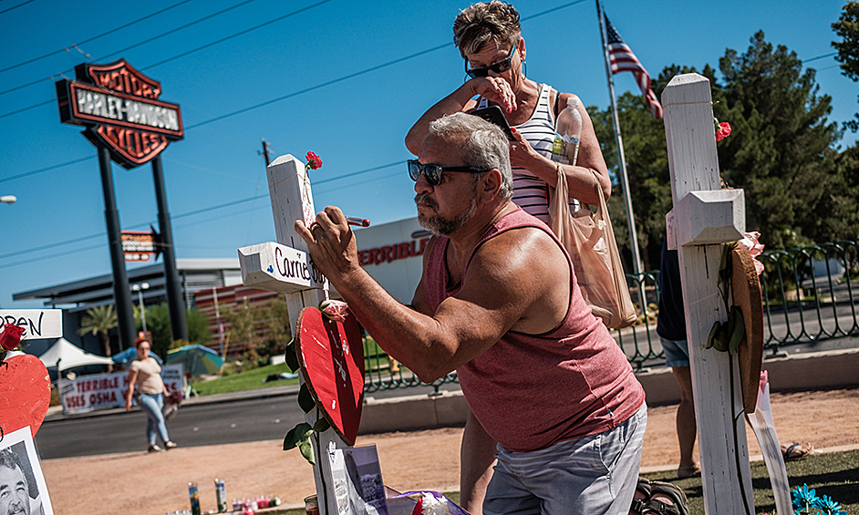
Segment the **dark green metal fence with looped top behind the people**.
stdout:
<svg viewBox="0 0 859 515">
<path fill-rule="evenodd" d="M 761 293 L 764 347 L 778 354 L 783 345 L 817 343 L 859 337 L 859 242 L 823 243 L 787 251 L 764 252 Z M 638 308 L 635 327 L 613 330 L 617 345 L 636 371 L 662 366 L 665 356 L 656 333 L 659 272 L 626 274 Z M 404 367 L 391 361 L 372 340 L 365 343 L 365 391 L 423 385 Z M 436 391 L 457 382 L 450 374 L 434 382 Z"/>
</svg>

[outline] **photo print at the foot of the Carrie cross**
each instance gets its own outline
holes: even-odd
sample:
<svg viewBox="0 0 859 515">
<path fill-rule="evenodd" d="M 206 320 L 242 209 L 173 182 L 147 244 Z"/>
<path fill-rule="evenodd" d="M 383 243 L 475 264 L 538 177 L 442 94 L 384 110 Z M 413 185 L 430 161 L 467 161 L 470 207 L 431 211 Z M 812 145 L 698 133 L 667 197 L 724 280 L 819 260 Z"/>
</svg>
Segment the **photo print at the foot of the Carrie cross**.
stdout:
<svg viewBox="0 0 859 515">
<path fill-rule="evenodd" d="M 338 515 L 388 515 L 376 446 L 329 452 Z"/>
</svg>

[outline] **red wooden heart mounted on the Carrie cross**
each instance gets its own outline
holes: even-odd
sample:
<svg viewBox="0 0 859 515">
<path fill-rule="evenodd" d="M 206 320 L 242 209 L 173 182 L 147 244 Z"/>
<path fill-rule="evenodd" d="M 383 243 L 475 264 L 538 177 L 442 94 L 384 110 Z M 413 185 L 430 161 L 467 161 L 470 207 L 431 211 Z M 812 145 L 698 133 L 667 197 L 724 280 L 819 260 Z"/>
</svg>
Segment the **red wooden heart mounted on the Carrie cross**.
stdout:
<svg viewBox="0 0 859 515">
<path fill-rule="evenodd" d="M 316 307 L 298 315 L 295 338 L 305 384 L 337 435 L 355 445 L 364 406 L 364 345 L 354 314 L 328 320 Z"/>
</svg>

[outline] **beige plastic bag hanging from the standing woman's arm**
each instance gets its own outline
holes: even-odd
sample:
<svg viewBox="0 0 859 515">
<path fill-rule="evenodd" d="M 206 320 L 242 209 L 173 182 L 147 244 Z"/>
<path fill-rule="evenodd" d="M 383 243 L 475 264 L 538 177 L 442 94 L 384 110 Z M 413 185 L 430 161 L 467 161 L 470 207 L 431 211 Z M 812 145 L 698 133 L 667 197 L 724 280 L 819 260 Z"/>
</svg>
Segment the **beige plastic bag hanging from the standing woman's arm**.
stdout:
<svg viewBox="0 0 859 515">
<path fill-rule="evenodd" d="M 580 210 L 570 213 L 567 191 L 566 175 L 558 167 L 557 186 L 549 188 L 549 227 L 570 254 L 575 280 L 585 303 L 609 329 L 635 325 L 636 306 L 626 287 L 626 275 L 602 189 L 597 183 L 599 205 L 596 212 L 583 204 Z"/>
</svg>

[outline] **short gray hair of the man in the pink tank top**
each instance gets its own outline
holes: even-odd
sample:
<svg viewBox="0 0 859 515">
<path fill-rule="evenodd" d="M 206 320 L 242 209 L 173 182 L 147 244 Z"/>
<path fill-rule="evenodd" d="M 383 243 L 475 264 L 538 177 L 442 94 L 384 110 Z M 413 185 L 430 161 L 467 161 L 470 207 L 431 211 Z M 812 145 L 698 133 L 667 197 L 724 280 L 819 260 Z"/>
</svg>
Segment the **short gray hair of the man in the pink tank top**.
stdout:
<svg viewBox="0 0 859 515">
<path fill-rule="evenodd" d="M 478 170 L 501 171 L 502 184 L 498 195 L 502 199 L 512 197 L 510 142 L 500 127 L 467 113 L 454 113 L 430 122 L 430 136 L 445 141 L 465 136 L 465 145 L 460 149 L 462 164 Z"/>
</svg>

